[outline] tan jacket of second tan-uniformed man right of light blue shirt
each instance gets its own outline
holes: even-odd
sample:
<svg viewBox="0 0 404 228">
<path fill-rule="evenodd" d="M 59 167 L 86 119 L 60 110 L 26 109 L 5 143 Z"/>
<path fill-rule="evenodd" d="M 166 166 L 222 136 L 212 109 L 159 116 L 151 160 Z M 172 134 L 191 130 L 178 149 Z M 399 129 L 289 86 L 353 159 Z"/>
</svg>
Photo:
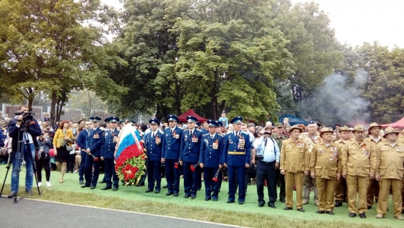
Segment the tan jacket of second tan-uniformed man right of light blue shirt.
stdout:
<svg viewBox="0 0 404 228">
<path fill-rule="evenodd" d="M 341 158 L 341 148 L 335 142 L 328 147 L 324 142 L 315 144 L 310 154 L 310 171 L 319 178 L 336 179 L 337 173 L 342 172 Z"/>
</svg>

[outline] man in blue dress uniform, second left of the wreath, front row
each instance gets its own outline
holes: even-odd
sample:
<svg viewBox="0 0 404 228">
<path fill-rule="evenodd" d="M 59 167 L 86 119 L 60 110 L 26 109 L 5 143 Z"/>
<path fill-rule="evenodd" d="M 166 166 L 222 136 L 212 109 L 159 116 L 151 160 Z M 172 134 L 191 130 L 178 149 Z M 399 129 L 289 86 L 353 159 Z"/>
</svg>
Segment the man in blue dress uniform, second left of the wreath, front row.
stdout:
<svg viewBox="0 0 404 228">
<path fill-rule="evenodd" d="M 88 130 L 85 145 L 87 152 L 84 162 L 85 183 L 83 186 L 81 186 L 81 188 L 90 187 L 90 189 L 95 189 L 95 186 L 97 186 L 99 175 L 99 156 L 101 155 L 101 147 L 104 142 L 104 130 L 98 127 L 100 120 L 101 118 L 97 116 L 90 117 L 92 128 Z M 94 156 L 97 160 L 94 161 L 92 156 Z"/>
</svg>

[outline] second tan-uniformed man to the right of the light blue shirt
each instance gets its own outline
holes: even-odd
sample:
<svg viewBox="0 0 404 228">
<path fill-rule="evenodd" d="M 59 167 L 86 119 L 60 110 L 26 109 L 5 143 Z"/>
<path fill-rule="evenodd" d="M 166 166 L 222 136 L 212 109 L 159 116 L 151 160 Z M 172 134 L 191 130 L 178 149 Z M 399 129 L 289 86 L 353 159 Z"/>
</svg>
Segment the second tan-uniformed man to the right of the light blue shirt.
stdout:
<svg viewBox="0 0 404 228">
<path fill-rule="evenodd" d="M 310 173 L 317 180 L 319 196 L 318 214 L 334 215 L 335 179 L 341 178 L 341 148 L 332 142 L 331 128 L 321 129 L 322 142 L 315 144 L 310 154 Z"/>
</svg>

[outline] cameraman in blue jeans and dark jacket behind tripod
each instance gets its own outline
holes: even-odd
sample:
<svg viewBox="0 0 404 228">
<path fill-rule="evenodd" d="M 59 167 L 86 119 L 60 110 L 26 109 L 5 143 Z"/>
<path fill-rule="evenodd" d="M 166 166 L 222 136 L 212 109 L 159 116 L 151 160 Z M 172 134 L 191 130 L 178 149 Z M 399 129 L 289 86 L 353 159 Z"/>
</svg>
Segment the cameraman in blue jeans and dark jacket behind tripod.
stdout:
<svg viewBox="0 0 404 228">
<path fill-rule="evenodd" d="M 17 178 L 17 170 L 21 169 L 22 163 L 22 155 L 19 153 L 19 151 L 17 151 L 19 141 L 23 142 L 21 143 L 20 147 L 22 147 L 25 160 L 25 192 L 29 195 L 33 195 L 31 190 L 33 178 L 33 160 L 31 161 L 30 157 L 32 156 L 32 159 L 35 158 L 35 148 L 38 147 L 36 137 L 42 133 L 38 121 L 32 116 L 29 116 L 28 106 L 21 105 L 18 107 L 17 111 L 24 114 L 18 115 L 14 119 L 10 120 L 10 126 L 8 127 L 8 134 L 12 138 L 13 153 L 16 153 L 14 158 L 12 154 L 9 155 L 11 158 L 13 158 L 11 161 L 13 164 L 13 172 L 11 173 L 11 194 L 8 196 L 9 198 L 15 197 L 16 193 L 18 192 L 19 179 Z M 29 119 L 27 117 L 32 117 L 32 120 L 28 121 Z M 26 132 L 23 133 L 23 131 L 20 131 L 20 128 L 22 127 L 25 127 Z M 18 136 L 20 136 L 20 138 L 18 138 Z M 26 141 L 28 141 L 28 147 Z M 28 153 L 31 153 L 31 156 L 28 156 Z"/>
</svg>

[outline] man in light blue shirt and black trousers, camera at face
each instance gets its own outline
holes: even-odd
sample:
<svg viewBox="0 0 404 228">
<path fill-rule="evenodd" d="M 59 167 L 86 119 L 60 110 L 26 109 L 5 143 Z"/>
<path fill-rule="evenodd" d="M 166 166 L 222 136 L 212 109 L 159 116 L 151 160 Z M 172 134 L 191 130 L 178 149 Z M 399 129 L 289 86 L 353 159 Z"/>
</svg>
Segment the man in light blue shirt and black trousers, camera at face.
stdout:
<svg viewBox="0 0 404 228">
<path fill-rule="evenodd" d="M 269 202 L 268 206 L 275 207 L 276 194 L 276 170 L 279 169 L 280 151 L 278 144 L 270 137 L 271 127 L 257 129 L 259 138 L 255 141 L 257 149 L 257 194 L 258 206 L 265 205 L 264 200 L 264 180 L 267 180 Z"/>
</svg>

